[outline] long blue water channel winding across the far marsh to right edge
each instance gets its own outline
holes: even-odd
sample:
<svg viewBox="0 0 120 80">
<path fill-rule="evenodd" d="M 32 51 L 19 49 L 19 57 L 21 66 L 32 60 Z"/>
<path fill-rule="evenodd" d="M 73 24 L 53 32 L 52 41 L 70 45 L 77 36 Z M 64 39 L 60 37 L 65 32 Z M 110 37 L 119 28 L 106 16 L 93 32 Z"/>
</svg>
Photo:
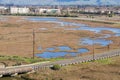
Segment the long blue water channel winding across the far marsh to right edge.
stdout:
<svg viewBox="0 0 120 80">
<path fill-rule="evenodd" d="M 74 26 L 74 28 L 67 28 L 65 30 L 88 30 L 88 31 L 93 31 L 95 33 L 100 33 L 103 30 L 111 31 L 113 33 L 120 33 L 120 28 L 109 28 L 105 26 L 98 26 L 98 27 L 91 27 L 86 24 L 81 24 L 81 23 L 74 23 L 74 22 L 65 22 L 62 20 L 59 20 L 58 18 L 50 18 L 50 17 L 29 17 L 26 18 L 29 21 L 46 21 L 46 22 L 54 22 L 54 23 L 59 23 L 60 26 Z M 59 27 L 60 27 L 59 26 Z"/>
</svg>

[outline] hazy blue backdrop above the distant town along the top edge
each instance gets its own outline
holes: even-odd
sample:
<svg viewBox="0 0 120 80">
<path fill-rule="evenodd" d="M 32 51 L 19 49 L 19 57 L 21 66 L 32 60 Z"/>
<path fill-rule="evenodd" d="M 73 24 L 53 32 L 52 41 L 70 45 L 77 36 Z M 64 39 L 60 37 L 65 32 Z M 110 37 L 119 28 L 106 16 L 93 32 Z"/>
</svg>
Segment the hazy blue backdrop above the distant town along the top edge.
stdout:
<svg viewBox="0 0 120 80">
<path fill-rule="evenodd" d="M 120 5 L 120 0 L 0 0 L 15 5 Z"/>
</svg>

